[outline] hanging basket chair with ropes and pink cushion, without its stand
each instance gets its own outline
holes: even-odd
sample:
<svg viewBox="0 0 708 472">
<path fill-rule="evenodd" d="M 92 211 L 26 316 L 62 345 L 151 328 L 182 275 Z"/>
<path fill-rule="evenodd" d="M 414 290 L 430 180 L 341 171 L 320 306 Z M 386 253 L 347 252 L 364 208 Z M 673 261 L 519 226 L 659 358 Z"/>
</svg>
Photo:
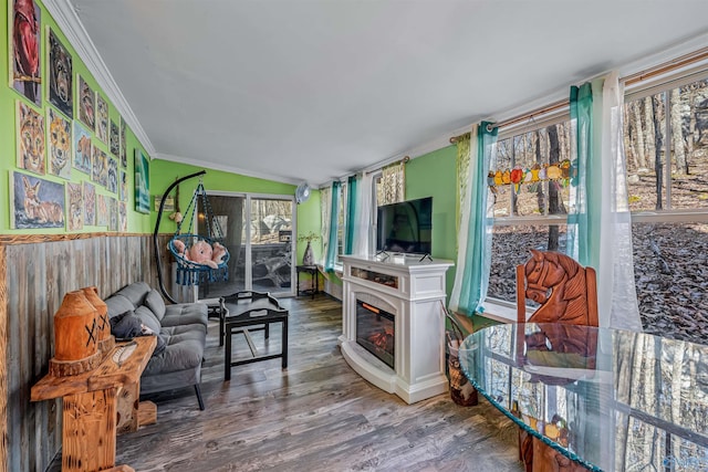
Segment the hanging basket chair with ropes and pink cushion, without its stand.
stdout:
<svg viewBox="0 0 708 472">
<path fill-rule="evenodd" d="M 201 207 L 198 209 L 198 207 Z M 201 211 L 201 212 L 199 212 Z M 204 225 L 202 234 L 192 233 L 195 218 Z M 204 221 L 201 221 L 204 219 Z M 188 223 L 185 233 L 183 225 Z M 195 231 L 197 229 L 195 228 Z M 223 243 L 223 232 L 211 210 L 201 178 L 191 196 L 177 231 L 167 244 L 177 262 L 176 282 L 179 285 L 199 285 L 206 282 L 229 280 L 229 251 Z"/>
</svg>

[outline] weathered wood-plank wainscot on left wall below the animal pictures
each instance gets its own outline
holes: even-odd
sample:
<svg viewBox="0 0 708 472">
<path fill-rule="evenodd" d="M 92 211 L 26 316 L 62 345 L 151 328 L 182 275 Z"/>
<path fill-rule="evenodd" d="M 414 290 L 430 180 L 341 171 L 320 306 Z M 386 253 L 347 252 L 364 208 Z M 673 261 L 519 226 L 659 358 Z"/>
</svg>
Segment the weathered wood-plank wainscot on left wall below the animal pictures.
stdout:
<svg viewBox="0 0 708 472">
<path fill-rule="evenodd" d="M 30 389 L 49 371 L 64 294 L 95 285 L 105 298 L 136 281 L 156 287 L 156 274 L 147 234 L 0 235 L 0 472 L 45 470 L 61 448 L 61 399 L 30 402 Z"/>
</svg>

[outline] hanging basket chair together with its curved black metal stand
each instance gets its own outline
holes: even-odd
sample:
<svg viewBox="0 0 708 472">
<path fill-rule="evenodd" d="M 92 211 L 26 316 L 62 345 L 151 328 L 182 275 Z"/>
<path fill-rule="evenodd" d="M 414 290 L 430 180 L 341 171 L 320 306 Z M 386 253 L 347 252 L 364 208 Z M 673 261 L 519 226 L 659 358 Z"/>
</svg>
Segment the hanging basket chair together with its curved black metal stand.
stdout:
<svg viewBox="0 0 708 472">
<path fill-rule="evenodd" d="M 205 175 L 206 171 L 201 170 L 196 174 L 190 174 L 188 176 L 181 177 L 175 180 L 165 191 L 165 196 L 169 195 L 169 192 L 180 182 Z M 201 199 L 201 200 L 200 200 Z M 165 198 L 162 199 L 159 204 L 159 210 L 157 212 L 157 221 L 155 223 L 155 232 L 153 233 L 153 243 L 155 245 L 155 262 L 157 265 L 157 280 L 159 283 L 159 289 L 163 295 L 169 300 L 171 303 L 178 303 L 175 298 L 167 292 L 165 289 L 165 284 L 163 281 L 163 271 L 160 265 L 160 255 L 159 255 L 159 243 L 157 241 L 157 235 L 159 231 L 159 224 L 163 219 L 163 211 L 165 206 Z M 194 219 L 197 216 L 197 206 L 198 202 L 201 201 L 204 212 L 205 212 L 205 224 L 207 235 L 192 233 L 192 223 Z M 181 234 L 181 225 L 185 221 L 189 221 L 189 229 L 187 233 Z M 199 285 L 200 283 L 206 282 L 216 282 L 216 281 L 226 281 L 229 276 L 229 270 L 227 263 L 229 262 L 229 252 L 220 245 L 220 242 L 223 240 L 223 233 L 221 232 L 221 228 L 219 223 L 212 218 L 211 214 L 211 206 L 209 204 L 209 200 L 207 199 L 206 190 L 204 189 L 204 185 L 201 183 L 201 179 L 199 180 L 199 185 L 195 189 L 192 193 L 191 201 L 185 211 L 185 218 L 177 225 L 177 231 L 169 240 L 168 249 L 173 253 L 175 261 L 177 262 L 177 279 L 176 282 L 180 285 Z M 206 242 L 210 248 L 219 248 L 219 250 L 223 251 L 222 258 L 217 261 L 207 261 L 206 263 L 198 263 L 195 261 L 190 261 L 186 253 L 192 248 L 195 244 L 199 242 Z"/>
</svg>

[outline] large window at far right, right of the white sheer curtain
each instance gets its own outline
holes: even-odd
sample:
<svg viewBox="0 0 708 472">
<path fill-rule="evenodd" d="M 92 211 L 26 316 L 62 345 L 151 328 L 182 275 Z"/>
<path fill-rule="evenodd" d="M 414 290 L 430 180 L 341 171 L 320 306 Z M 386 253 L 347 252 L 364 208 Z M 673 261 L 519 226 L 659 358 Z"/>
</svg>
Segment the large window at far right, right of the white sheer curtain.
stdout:
<svg viewBox="0 0 708 472">
<path fill-rule="evenodd" d="M 698 327 L 708 325 L 708 72 L 632 91 L 624 135 L 644 328 L 704 343 Z"/>
</svg>

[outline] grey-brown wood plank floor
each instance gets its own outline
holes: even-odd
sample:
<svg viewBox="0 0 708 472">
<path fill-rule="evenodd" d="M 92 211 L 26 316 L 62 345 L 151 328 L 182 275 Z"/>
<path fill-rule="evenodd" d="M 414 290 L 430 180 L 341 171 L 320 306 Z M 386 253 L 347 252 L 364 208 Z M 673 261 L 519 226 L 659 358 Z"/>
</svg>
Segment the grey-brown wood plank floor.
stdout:
<svg viewBox="0 0 708 472">
<path fill-rule="evenodd" d="M 200 411 L 194 388 L 146 397 L 157 423 L 118 437 L 117 463 L 136 471 L 522 471 L 517 429 L 480 396 L 407 405 L 363 380 L 340 353 L 342 305 L 317 295 L 284 298 L 289 365 L 236 366 L 223 381 L 218 322 L 210 321 Z M 253 340 L 280 350 L 280 327 Z M 233 359 L 248 357 L 233 338 Z M 55 461 L 56 462 L 56 461 Z"/>
</svg>

